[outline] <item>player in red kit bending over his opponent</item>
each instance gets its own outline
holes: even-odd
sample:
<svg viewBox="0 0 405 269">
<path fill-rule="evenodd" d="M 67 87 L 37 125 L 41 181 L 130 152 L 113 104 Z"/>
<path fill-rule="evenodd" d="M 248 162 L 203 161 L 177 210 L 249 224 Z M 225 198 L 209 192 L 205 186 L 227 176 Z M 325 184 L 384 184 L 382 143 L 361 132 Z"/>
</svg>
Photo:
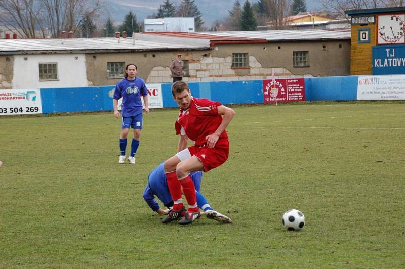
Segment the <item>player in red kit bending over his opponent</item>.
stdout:
<svg viewBox="0 0 405 269">
<path fill-rule="evenodd" d="M 225 128 L 235 111 L 219 102 L 192 97 L 184 81 L 172 85 L 172 94 L 180 106 L 180 115 L 175 123 L 176 134 L 180 135 L 180 139 L 178 153 L 164 165 L 174 205 L 162 222 L 183 217 L 179 223 L 189 224 L 200 216 L 194 183 L 189 173 L 208 172 L 228 159 L 229 140 Z M 194 146 L 187 147 L 188 139 L 195 142 Z M 187 211 L 183 205 L 181 188 L 189 206 Z"/>
</svg>

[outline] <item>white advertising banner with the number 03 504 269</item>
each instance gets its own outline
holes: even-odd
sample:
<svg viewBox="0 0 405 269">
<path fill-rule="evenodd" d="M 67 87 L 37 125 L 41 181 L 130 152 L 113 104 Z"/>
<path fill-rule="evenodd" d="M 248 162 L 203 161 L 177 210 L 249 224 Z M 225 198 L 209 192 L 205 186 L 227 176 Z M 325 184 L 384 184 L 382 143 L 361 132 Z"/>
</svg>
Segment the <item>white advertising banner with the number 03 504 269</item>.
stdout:
<svg viewBox="0 0 405 269">
<path fill-rule="evenodd" d="M 0 89 L 0 116 L 41 113 L 40 89 Z"/>
</svg>

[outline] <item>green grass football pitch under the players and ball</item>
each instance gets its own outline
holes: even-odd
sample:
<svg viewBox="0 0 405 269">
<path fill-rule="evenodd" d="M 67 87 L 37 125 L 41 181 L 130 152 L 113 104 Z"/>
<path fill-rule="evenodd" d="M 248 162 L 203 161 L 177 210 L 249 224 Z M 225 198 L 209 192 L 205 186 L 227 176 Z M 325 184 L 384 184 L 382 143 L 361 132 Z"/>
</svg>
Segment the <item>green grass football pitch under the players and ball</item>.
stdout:
<svg viewBox="0 0 405 269">
<path fill-rule="evenodd" d="M 231 225 L 163 225 L 148 173 L 177 149 L 152 110 L 136 165 L 112 113 L 0 118 L 0 267 L 405 267 L 405 103 L 233 106 L 202 192 Z M 129 150 L 129 147 L 128 147 Z M 282 214 L 306 216 L 289 232 Z"/>
</svg>

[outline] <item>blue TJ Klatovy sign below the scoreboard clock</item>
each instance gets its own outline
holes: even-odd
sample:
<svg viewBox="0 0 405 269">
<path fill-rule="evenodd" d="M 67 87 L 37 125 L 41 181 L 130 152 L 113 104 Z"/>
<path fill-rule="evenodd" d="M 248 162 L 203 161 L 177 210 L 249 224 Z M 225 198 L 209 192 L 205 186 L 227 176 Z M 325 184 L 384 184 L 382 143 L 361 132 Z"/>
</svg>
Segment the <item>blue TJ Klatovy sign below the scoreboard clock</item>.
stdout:
<svg viewBox="0 0 405 269">
<path fill-rule="evenodd" d="M 373 75 L 405 74 L 405 45 L 374 46 Z"/>
</svg>

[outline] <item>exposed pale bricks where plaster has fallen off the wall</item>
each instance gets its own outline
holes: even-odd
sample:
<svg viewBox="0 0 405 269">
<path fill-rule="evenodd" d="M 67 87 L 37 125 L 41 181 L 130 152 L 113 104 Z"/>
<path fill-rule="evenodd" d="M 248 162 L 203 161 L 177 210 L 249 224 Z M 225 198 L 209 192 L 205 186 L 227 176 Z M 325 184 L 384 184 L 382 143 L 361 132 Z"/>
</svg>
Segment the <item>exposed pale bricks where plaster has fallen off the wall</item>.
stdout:
<svg viewBox="0 0 405 269">
<path fill-rule="evenodd" d="M 200 60 L 189 60 L 189 76 L 183 77 L 184 81 L 229 81 L 229 80 L 261 80 L 271 79 L 272 68 L 263 68 L 256 57 L 249 57 L 249 68 L 247 74 L 238 75 L 235 69 L 231 68 L 232 57 L 202 57 Z M 292 75 L 292 73 L 284 68 L 277 67 L 274 69 L 274 75 L 277 78 L 289 77 L 304 77 L 300 75 Z M 168 83 L 172 82 L 170 68 L 156 66 L 149 73 L 146 79 L 147 83 Z M 307 77 L 307 76 L 305 76 Z"/>
</svg>

